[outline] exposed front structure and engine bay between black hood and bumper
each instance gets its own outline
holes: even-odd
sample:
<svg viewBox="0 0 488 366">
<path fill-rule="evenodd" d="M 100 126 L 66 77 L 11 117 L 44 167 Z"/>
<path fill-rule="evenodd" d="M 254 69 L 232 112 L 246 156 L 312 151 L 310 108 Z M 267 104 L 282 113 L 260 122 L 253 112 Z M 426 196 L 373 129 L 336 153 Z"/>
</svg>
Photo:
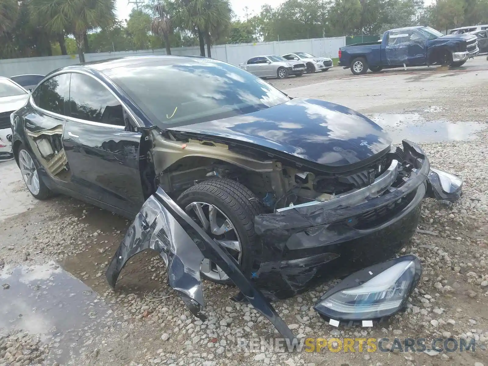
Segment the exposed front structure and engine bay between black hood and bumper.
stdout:
<svg viewBox="0 0 488 366">
<path fill-rule="evenodd" d="M 267 213 L 322 203 L 359 190 L 367 191 L 367 197 L 376 197 L 400 186 L 412 171 L 411 164 L 403 163 L 403 150 L 395 147 L 352 170 L 325 172 L 305 170 L 300 163 L 276 157 L 264 160 L 259 152 L 244 151 L 228 143 L 203 138 L 183 139 L 183 136 L 178 136 L 177 140 L 171 132 L 168 138 L 153 137 L 152 157 L 159 184 L 165 192 L 178 196 L 204 180 L 229 178 L 249 188 Z M 174 153 L 170 157 L 177 160 L 174 163 L 167 160 L 169 151 Z M 367 188 L 378 180 L 380 184 Z M 357 203 L 365 198 L 363 195 Z"/>
</svg>

